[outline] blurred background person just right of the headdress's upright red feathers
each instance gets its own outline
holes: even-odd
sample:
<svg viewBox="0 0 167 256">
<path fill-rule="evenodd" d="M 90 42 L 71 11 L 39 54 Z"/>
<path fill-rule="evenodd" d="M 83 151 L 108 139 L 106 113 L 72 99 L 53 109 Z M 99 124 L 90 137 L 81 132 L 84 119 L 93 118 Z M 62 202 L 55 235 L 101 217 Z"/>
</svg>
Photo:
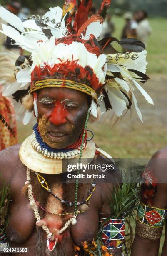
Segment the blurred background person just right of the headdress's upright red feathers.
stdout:
<svg viewBox="0 0 167 256">
<path fill-rule="evenodd" d="M 112 36 L 114 31 L 115 31 L 115 25 L 112 21 L 111 15 L 107 14 L 105 22 L 103 23 L 103 26 L 102 26 L 102 33 L 100 34 L 100 39 Z"/>
</svg>

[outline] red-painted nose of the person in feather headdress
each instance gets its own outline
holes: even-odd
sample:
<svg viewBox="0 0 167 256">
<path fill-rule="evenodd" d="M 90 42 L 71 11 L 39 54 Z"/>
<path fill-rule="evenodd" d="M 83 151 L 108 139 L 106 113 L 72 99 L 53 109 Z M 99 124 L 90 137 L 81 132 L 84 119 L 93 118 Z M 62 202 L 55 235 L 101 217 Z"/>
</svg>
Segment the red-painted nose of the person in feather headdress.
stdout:
<svg viewBox="0 0 167 256">
<path fill-rule="evenodd" d="M 67 123 L 67 110 L 62 104 L 57 104 L 55 106 L 51 113 L 49 121 L 54 125 L 62 125 Z"/>
</svg>

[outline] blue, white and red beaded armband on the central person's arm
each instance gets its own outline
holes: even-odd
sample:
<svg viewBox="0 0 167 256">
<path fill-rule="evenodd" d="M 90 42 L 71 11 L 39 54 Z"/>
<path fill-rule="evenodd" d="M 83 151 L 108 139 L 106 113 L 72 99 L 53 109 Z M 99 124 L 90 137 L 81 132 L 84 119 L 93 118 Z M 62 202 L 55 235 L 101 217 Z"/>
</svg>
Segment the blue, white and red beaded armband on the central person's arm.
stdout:
<svg viewBox="0 0 167 256">
<path fill-rule="evenodd" d="M 101 218 L 100 223 L 103 223 L 106 218 Z M 125 219 L 107 220 L 101 231 L 102 243 L 110 249 L 121 248 L 125 239 Z"/>
</svg>

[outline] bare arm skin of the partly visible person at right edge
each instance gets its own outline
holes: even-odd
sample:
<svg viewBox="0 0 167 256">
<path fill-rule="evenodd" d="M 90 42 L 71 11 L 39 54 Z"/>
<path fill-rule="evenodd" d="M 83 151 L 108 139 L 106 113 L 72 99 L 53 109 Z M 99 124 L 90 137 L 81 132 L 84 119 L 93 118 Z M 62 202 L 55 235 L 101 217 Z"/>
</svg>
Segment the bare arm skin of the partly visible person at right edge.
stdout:
<svg viewBox="0 0 167 256">
<path fill-rule="evenodd" d="M 152 156 L 148 164 L 150 170 L 156 173 L 158 179 L 157 192 L 153 204 L 160 209 L 167 209 L 167 147 Z M 157 256 L 159 252 L 160 239 L 150 240 L 141 238 L 137 234 L 132 246 L 131 256 Z M 167 255 L 167 224 L 165 228 L 165 242 L 161 256 Z"/>
</svg>

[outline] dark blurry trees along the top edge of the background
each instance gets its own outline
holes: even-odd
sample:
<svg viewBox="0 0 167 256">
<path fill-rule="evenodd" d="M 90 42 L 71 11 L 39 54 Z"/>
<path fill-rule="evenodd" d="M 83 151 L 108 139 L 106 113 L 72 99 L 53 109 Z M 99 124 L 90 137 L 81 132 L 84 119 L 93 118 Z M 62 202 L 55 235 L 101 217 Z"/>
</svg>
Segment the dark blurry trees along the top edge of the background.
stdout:
<svg viewBox="0 0 167 256">
<path fill-rule="evenodd" d="M 11 0 L 12 1 L 12 0 Z M 10 0 L 1 0 L 1 5 L 6 5 Z M 95 7 L 99 7 L 102 0 L 93 0 Z M 62 7 L 64 0 L 17 0 L 23 7 L 28 7 L 31 10 L 41 8 L 47 10 L 49 7 Z M 125 11 L 143 9 L 150 16 L 166 16 L 167 17 L 167 0 L 112 0 L 110 11 L 112 13 L 122 14 Z"/>
</svg>

